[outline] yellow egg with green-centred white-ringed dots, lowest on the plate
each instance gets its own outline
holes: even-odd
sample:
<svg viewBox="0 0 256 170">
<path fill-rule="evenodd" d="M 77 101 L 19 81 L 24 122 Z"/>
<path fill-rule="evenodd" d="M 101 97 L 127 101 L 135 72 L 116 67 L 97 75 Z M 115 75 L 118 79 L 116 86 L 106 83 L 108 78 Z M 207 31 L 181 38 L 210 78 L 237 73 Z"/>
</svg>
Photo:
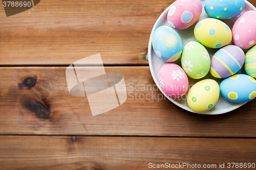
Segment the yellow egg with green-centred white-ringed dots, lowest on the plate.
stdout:
<svg viewBox="0 0 256 170">
<path fill-rule="evenodd" d="M 187 94 L 187 104 L 196 112 L 206 112 L 212 109 L 219 100 L 219 84 L 211 79 L 197 82 Z"/>
</svg>

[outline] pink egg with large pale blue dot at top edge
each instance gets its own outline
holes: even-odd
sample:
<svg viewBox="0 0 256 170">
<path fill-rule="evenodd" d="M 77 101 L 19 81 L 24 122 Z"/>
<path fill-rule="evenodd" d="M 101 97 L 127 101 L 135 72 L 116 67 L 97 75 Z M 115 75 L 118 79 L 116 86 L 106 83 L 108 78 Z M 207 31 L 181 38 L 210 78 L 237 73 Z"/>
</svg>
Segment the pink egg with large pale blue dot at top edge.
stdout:
<svg viewBox="0 0 256 170">
<path fill-rule="evenodd" d="M 178 0 L 173 3 L 167 14 L 170 27 L 183 30 L 195 23 L 202 12 L 200 0 Z"/>
</svg>

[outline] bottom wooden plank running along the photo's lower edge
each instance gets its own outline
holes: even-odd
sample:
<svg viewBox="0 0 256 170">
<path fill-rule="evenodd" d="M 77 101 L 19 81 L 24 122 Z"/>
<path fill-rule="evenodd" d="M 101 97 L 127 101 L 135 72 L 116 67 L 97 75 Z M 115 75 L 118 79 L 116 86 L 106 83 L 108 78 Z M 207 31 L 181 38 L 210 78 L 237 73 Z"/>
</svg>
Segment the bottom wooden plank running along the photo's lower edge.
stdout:
<svg viewBox="0 0 256 170">
<path fill-rule="evenodd" d="M 0 136 L 0 151 L 1 169 L 125 170 L 148 169 L 149 163 L 209 169 L 224 163 L 228 169 L 227 163 L 255 163 L 256 139 Z"/>
</svg>

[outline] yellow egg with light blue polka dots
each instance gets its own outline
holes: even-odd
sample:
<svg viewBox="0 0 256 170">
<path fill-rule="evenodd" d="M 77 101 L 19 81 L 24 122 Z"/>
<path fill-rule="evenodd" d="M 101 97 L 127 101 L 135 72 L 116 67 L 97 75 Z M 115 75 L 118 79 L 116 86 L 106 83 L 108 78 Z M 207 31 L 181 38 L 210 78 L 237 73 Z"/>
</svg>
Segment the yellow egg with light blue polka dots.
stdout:
<svg viewBox="0 0 256 170">
<path fill-rule="evenodd" d="M 194 34 L 198 42 L 210 48 L 220 48 L 232 40 L 230 28 L 219 19 L 206 18 L 199 21 Z"/>
</svg>

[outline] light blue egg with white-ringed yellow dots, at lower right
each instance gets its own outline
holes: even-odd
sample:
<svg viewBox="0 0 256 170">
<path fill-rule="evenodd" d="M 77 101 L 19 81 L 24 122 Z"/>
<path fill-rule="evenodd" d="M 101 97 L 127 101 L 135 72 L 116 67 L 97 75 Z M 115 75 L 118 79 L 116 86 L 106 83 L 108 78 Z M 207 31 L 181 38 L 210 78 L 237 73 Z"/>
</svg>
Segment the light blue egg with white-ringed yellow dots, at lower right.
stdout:
<svg viewBox="0 0 256 170">
<path fill-rule="evenodd" d="M 233 75 L 220 84 L 221 94 L 235 103 L 245 103 L 256 96 L 256 80 L 248 75 Z"/>
</svg>

